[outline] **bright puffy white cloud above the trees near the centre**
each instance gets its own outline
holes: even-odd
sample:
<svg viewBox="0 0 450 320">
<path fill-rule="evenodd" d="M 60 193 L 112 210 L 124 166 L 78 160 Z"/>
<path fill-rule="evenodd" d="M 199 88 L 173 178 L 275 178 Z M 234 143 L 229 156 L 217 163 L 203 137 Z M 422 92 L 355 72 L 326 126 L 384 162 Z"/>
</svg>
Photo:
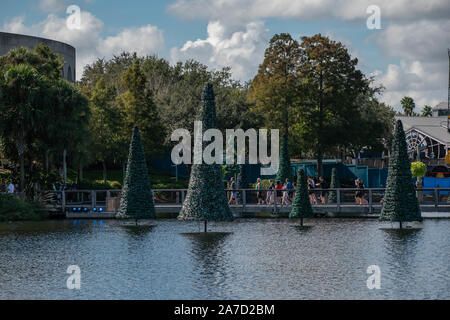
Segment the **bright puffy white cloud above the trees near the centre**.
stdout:
<svg viewBox="0 0 450 320">
<path fill-rule="evenodd" d="M 208 23 L 207 39 L 188 41 L 181 49 L 172 48 L 171 59 L 195 59 L 215 69 L 229 66 L 236 79 L 249 80 L 264 58 L 267 37 L 263 22 L 239 26 L 213 21 Z"/>
</svg>

